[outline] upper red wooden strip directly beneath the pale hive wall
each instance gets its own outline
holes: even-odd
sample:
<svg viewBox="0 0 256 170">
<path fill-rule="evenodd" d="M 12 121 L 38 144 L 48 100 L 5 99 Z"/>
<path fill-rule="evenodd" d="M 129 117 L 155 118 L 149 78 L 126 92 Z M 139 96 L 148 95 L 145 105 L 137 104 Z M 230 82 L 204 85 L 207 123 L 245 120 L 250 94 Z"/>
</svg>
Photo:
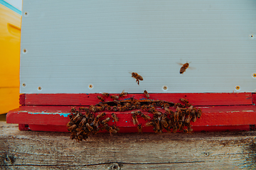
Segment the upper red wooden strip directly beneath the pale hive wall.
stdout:
<svg viewBox="0 0 256 170">
<path fill-rule="evenodd" d="M 101 94 L 22 94 L 21 105 L 56 105 L 56 106 L 90 106 L 99 103 L 97 96 Z M 112 94 L 110 94 L 111 96 Z M 119 94 L 114 94 L 118 95 Z M 206 93 L 206 94 L 149 94 L 152 100 L 180 102 L 180 98 L 186 98 L 193 106 L 225 106 L 225 105 L 251 105 L 251 93 Z M 113 101 L 112 98 L 105 101 Z M 128 94 L 125 98 L 134 97 L 138 100 L 146 99 L 144 94 Z M 123 100 L 125 98 L 120 98 Z"/>
</svg>

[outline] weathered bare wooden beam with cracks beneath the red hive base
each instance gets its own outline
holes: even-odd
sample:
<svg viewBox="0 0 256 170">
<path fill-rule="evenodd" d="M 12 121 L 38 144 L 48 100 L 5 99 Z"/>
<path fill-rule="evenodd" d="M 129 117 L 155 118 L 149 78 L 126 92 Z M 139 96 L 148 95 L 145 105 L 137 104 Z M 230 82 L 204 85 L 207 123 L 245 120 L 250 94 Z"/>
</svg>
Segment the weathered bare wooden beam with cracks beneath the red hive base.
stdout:
<svg viewBox="0 0 256 170">
<path fill-rule="evenodd" d="M 255 169 L 256 131 L 117 133 L 19 131 L 0 122 L 1 169 Z M 117 166 L 114 166 L 117 168 Z"/>
</svg>

